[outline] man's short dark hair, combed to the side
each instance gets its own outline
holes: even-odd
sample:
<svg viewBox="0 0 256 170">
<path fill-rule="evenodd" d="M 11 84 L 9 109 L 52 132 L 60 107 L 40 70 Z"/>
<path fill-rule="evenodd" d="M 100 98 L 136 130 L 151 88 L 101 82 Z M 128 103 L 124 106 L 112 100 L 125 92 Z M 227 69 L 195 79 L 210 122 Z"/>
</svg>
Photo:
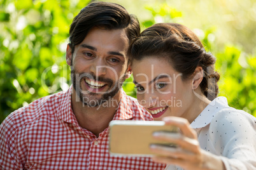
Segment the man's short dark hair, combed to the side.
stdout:
<svg viewBox="0 0 256 170">
<path fill-rule="evenodd" d="M 129 42 L 139 36 L 139 22 L 134 15 L 129 15 L 123 6 L 115 3 L 95 2 L 85 6 L 75 16 L 69 30 L 69 46 L 72 53 L 92 27 L 104 29 L 125 29 Z"/>
</svg>

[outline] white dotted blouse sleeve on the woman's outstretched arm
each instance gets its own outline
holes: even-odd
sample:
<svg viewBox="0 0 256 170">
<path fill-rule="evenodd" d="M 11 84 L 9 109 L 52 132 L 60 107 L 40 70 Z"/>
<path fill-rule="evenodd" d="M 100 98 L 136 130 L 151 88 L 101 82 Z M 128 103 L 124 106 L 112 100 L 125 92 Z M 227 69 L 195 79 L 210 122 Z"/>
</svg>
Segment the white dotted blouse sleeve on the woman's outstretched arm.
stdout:
<svg viewBox="0 0 256 170">
<path fill-rule="evenodd" d="M 256 169 L 256 118 L 234 108 L 223 108 L 215 115 L 210 131 L 217 153 L 227 170 Z"/>
</svg>

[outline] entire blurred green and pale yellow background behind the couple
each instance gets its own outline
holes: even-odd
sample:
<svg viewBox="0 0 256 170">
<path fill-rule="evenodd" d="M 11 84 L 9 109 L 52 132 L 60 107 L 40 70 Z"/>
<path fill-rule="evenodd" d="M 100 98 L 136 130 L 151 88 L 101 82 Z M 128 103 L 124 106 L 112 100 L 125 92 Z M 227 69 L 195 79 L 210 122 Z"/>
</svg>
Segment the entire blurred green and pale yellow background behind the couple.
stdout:
<svg viewBox="0 0 256 170">
<path fill-rule="evenodd" d="M 0 0 L 0 123 L 17 108 L 71 84 L 65 53 L 69 25 L 90 1 Z M 142 29 L 178 22 L 217 57 L 220 96 L 256 116 L 256 1 L 127 0 Z M 136 96 L 132 77 L 124 84 Z"/>
</svg>

